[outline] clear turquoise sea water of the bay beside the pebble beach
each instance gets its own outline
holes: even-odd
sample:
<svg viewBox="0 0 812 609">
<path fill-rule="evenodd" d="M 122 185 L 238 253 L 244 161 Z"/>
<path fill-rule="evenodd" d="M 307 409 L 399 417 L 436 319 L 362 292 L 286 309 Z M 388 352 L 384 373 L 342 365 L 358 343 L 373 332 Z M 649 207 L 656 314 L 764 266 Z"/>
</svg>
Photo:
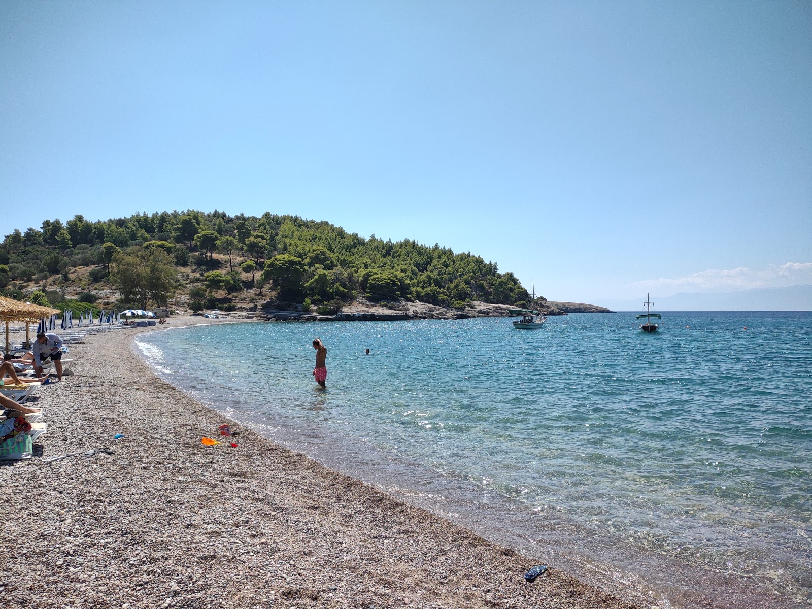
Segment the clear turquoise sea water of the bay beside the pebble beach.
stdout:
<svg viewBox="0 0 812 609">
<path fill-rule="evenodd" d="M 316 336 L 328 391 L 310 374 Z M 633 313 L 525 331 L 495 318 L 247 323 L 139 343 L 219 408 L 368 443 L 810 601 L 812 313 L 663 313 L 654 335 Z"/>
</svg>

